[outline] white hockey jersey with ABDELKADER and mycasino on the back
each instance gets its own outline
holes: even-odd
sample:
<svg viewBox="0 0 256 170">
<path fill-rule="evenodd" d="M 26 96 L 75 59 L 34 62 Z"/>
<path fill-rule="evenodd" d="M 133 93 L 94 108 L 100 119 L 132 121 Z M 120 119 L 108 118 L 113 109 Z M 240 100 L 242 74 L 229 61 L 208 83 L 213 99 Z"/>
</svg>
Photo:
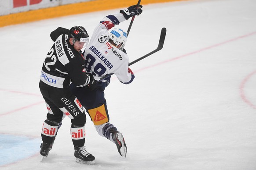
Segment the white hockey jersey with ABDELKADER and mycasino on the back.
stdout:
<svg viewBox="0 0 256 170">
<path fill-rule="evenodd" d="M 125 18 L 121 13 L 103 18 L 95 28 L 90 43 L 84 51 L 85 68 L 94 75 L 95 80 L 111 73 L 124 84 L 129 84 L 134 79 L 132 71 L 128 70 L 128 55 L 108 42 L 110 25 L 107 26 L 106 23 L 112 22 L 118 25 L 122 21 L 125 21 Z M 111 27 L 114 26 L 113 24 Z"/>
</svg>

